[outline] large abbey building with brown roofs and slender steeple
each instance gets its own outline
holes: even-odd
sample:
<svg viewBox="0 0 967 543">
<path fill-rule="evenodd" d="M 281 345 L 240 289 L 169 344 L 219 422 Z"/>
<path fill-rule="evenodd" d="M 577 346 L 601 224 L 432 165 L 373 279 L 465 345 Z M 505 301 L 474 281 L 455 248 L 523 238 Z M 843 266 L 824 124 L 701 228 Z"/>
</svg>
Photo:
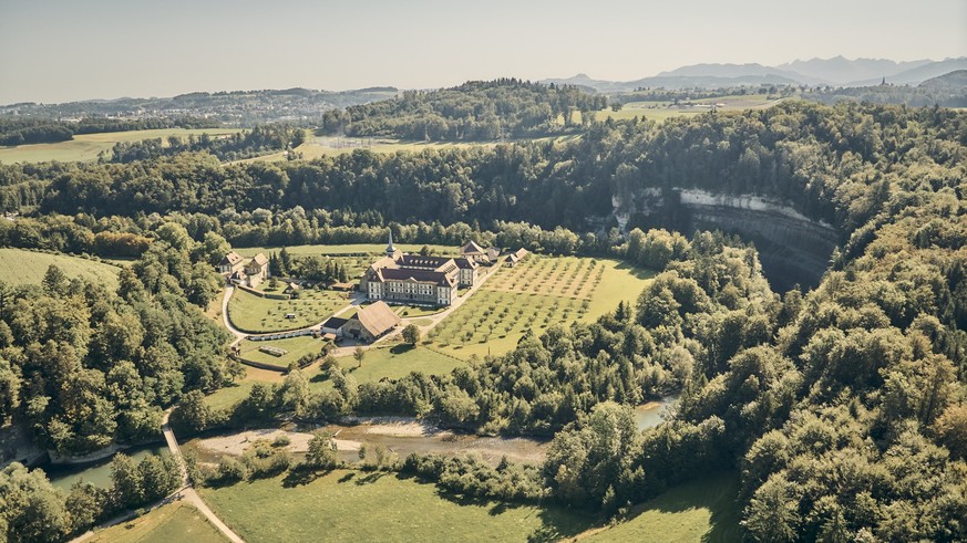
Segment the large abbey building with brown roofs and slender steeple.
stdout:
<svg viewBox="0 0 967 543">
<path fill-rule="evenodd" d="M 384 255 L 367 268 L 359 290 L 373 301 L 448 306 L 460 286 L 473 286 L 477 269 L 472 259 L 404 253 L 391 230 Z"/>
</svg>

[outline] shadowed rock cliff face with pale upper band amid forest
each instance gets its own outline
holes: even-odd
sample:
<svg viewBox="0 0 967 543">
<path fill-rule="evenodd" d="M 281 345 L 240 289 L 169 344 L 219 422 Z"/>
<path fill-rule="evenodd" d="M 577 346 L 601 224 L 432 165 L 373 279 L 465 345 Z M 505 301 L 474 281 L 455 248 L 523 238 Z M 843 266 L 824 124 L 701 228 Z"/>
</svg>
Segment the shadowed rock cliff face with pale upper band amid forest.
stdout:
<svg viewBox="0 0 967 543">
<path fill-rule="evenodd" d="M 784 292 L 796 283 L 804 288 L 817 285 L 840 242 L 840 234 L 831 224 L 759 196 L 649 188 L 635 195 L 632 206 L 627 201 L 621 203 L 624 217 L 619 217 L 616 206 L 616 219 L 624 219 L 629 227 L 672 228 L 686 234 L 696 230 L 721 230 L 751 241 L 776 292 Z M 630 216 L 629 207 L 634 209 Z"/>
</svg>

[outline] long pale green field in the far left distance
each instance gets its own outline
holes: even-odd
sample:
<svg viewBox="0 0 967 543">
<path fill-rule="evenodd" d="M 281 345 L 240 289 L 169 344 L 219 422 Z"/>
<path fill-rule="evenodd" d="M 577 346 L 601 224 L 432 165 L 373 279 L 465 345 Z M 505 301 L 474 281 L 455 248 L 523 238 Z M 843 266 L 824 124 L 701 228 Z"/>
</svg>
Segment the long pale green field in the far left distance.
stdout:
<svg viewBox="0 0 967 543">
<path fill-rule="evenodd" d="M 111 153 L 114 144 L 121 142 L 143 142 L 145 139 L 162 138 L 168 136 L 188 137 L 208 134 L 219 136 L 236 134 L 238 128 L 163 128 L 156 130 L 130 130 L 105 132 L 102 134 L 79 134 L 69 142 L 55 144 L 31 144 L 13 147 L 0 146 L 0 163 L 44 163 L 49 160 L 85 161 L 95 160 L 101 152 Z"/>
</svg>

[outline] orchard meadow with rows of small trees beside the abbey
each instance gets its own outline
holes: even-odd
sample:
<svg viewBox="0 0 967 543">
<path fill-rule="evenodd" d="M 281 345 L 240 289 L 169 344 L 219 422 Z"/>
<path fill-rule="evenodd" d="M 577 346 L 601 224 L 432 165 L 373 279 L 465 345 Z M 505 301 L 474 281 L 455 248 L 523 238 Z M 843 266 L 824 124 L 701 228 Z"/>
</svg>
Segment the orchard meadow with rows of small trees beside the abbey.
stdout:
<svg viewBox="0 0 967 543">
<path fill-rule="evenodd" d="M 460 358 L 511 351 L 533 330 L 593 321 L 618 302 L 635 302 L 652 275 L 616 260 L 531 254 L 494 268 L 486 283 L 425 340 Z"/>
</svg>

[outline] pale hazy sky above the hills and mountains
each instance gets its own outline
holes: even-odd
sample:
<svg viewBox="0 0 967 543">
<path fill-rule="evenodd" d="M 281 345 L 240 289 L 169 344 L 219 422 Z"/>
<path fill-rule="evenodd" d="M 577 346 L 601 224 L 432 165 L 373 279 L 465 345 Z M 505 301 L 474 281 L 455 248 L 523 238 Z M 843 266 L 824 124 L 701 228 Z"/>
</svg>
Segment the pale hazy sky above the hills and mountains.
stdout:
<svg viewBox="0 0 967 543">
<path fill-rule="evenodd" d="M 965 0 L 0 0 L 0 104 L 967 55 Z"/>
</svg>

